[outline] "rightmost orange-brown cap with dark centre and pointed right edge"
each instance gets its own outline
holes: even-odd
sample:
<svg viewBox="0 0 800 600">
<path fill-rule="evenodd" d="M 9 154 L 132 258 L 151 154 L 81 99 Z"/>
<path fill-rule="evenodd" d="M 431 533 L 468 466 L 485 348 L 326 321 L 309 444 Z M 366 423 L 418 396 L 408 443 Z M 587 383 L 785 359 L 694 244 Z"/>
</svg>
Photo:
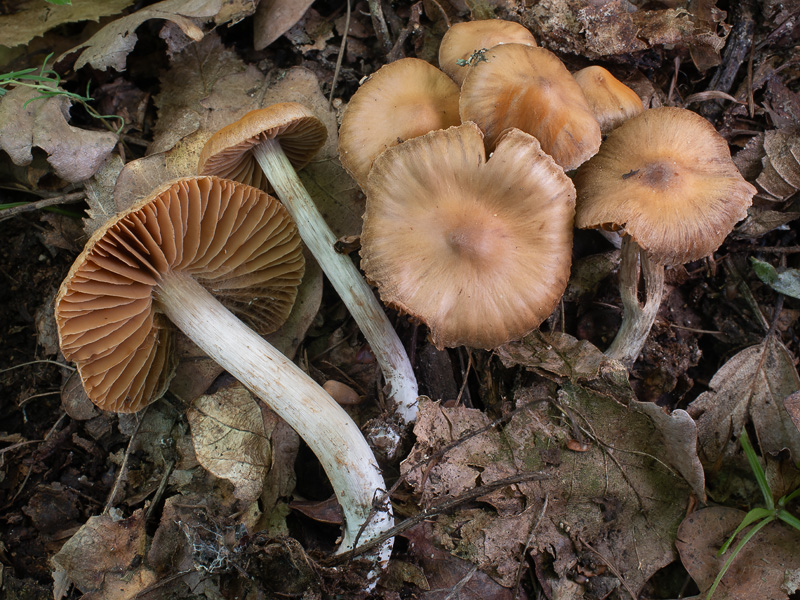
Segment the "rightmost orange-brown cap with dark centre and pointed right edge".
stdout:
<svg viewBox="0 0 800 600">
<path fill-rule="evenodd" d="M 714 127 L 670 107 L 646 110 L 612 131 L 578 170 L 575 186 L 578 227 L 623 227 L 664 265 L 714 252 L 756 193 Z"/>
</svg>

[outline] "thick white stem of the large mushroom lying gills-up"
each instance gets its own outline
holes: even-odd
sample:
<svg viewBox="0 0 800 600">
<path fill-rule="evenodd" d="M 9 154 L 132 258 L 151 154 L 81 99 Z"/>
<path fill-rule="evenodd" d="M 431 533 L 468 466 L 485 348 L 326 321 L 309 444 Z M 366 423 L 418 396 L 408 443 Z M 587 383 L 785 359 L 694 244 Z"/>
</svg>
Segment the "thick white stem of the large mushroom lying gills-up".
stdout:
<svg viewBox="0 0 800 600">
<path fill-rule="evenodd" d="M 385 495 L 383 477 L 361 431 L 325 390 L 188 275 L 166 275 L 156 288 L 156 302 L 178 329 L 282 417 L 317 456 L 344 512 L 339 552 L 352 549 L 357 538 L 363 544 L 392 527 L 388 499 L 369 518 L 375 500 Z M 372 556 L 383 567 L 391 550 L 389 540 Z"/>
</svg>

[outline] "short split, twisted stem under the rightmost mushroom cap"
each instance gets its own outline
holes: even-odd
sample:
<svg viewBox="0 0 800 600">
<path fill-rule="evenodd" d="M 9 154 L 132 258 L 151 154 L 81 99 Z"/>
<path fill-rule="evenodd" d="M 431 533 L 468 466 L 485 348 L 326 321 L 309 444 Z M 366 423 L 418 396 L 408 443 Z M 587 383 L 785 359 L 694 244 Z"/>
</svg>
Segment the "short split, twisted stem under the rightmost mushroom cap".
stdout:
<svg viewBox="0 0 800 600">
<path fill-rule="evenodd" d="M 639 265 L 644 276 L 644 304 L 639 302 Z M 631 367 L 642 351 L 650 328 L 656 320 L 664 293 L 664 265 L 654 263 L 629 235 L 622 240 L 619 266 L 619 290 L 622 296 L 622 325 L 606 350 L 606 356 Z"/>
</svg>

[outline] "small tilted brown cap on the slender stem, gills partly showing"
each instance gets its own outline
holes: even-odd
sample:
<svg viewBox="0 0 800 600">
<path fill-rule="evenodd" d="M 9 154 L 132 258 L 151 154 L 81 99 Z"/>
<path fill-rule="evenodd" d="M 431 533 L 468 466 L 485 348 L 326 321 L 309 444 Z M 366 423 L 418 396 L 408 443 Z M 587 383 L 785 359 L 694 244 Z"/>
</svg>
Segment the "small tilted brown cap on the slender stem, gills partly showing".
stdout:
<svg viewBox="0 0 800 600">
<path fill-rule="evenodd" d="M 253 146 L 277 139 L 295 169 L 301 169 L 325 144 L 325 125 L 302 104 L 283 102 L 252 110 L 211 136 L 200 153 L 197 172 L 269 188 Z"/>
</svg>

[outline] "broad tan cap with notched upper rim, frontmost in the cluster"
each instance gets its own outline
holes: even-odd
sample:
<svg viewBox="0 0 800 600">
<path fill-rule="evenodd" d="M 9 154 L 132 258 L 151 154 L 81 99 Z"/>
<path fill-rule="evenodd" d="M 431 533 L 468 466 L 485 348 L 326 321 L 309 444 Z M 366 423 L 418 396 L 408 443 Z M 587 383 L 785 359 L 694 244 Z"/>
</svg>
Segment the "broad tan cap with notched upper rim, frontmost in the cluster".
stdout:
<svg viewBox="0 0 800 600">
<path fill-rule="evenodd" d="M 569 278 L 575 190 L 512 129 L 486 160 L 474 123 L 390 148 L 367 180 L 362 266 L 437 347 L 494 348 L 538 327 Z"/>
</svg>

